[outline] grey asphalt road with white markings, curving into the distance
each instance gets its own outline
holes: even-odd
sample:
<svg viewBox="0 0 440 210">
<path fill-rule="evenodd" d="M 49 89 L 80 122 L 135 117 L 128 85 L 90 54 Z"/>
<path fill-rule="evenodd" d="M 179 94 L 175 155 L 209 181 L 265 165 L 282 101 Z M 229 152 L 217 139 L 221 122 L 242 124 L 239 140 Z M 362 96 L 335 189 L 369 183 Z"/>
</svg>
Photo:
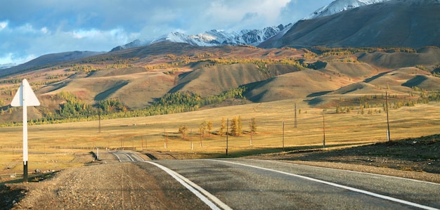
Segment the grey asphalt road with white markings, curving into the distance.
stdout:
<svg viewBox="0 0 440 210">
<path fill-rule="evenodd" d="M 177 181 L 205 203 L 193 209 L 440 208 L 437 183 L 257 159 L 141 161 L 113 154 L 145 171 L 162 169 L 157 179 Z"/>
</svg>

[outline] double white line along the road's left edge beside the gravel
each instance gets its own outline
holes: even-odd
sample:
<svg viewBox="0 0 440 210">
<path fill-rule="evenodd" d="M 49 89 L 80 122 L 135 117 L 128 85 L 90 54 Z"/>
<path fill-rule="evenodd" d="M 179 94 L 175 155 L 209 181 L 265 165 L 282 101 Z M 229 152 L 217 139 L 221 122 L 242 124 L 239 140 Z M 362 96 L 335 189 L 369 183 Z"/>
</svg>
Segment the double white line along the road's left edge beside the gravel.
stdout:
<svg viewBox="0 0 440 210">
<path fill-rule="evenodd" d="M 160 169 L 164 170 L 165 172 L 167 172 L 170 176 L 172 176 L 174 179 L 176 179 L 176 181 L 179 181 L 179 183 L 181 183 L 181 185 L 185 186 L 185 188 L 187 188 L 188 190 L 193 192 L 194 195 L 196 195 L 199 199 L 202 200 L 202 202 L 205 202 L 205 204 L 207 204 L 209 206 L 209 208 L 220 210 L 220 208 L 218 207 L 218 206 L 220 206 L 222 209 L 227 209 L 227 210 L 231 209 L 231 207 L 224 204 L 224 202 L 221 202 L 220 199 L 218 199 L 217 197 L 215 197 L 211 193 L 207 192 L 205 189 L 201 188 L 199 185 L 196 185 L 192 181 L 188 180 L 188 178 L 185 178 L 184 176 L 181 176 L 179 173 L 176 173 L 176 171 L 168 169 L 167 167 L 162 166 L 160 164 L 157 164 L 155 162 L 149 162 L 149 161 L 143 161 L 143 162 L 153 164 L 153 165 L 159 167 Z M 208 198 L 211 199 L 212 202 Z M 216 204 L 214 204 L 213 202 L 215 202 L 218 206 L 216 206 Z"/>
</svg>

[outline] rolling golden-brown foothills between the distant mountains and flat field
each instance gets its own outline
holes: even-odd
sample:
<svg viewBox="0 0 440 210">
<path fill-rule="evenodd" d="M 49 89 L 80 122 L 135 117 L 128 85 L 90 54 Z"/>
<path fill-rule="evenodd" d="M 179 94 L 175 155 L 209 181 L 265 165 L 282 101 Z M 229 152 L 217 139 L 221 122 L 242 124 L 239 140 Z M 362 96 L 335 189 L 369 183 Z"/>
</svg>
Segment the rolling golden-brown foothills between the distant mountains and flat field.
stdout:
<svg viewBox="0 0 440 210">
<path fill-rule="evenodd" d="M 403 100 L 411 92 L 440 90 L 440 77 L 436 77 L 440 49 L 436 47 L 417 51 L 311 50 L 316 53 L 294 48 L 198 47 L 163 42 L 56 63 L 16 74 L 16 79 L 0 80 L 4 112 L 1 122 L 20 121 L 19 110 L 9 107 L 20 78 L 30 81 L 41 100 L 41 106 L 30 110 L 30 119 L 49 117 L 47 120 L 93 116 L 98 114 L 93 110 L 97 107 L 105 113 L 144 110 L 174 93 L 194 93 L 188 95 L 193 99 L 186 100 L 197 100 L 197 106 L 168 105 L 168 110 L 154 108 L 148 113 L 196 110 L 212 103 L 233 105 L 221 101 L 237 96 L 246 98 L 242 103 L 297 98 L 316 107 L 332 107 L 341 98 L 356 103 L 354 98 L 383 95 L 384 91 Z M 237 89 L 240 87 L 244 89 Z"/>
</svg>

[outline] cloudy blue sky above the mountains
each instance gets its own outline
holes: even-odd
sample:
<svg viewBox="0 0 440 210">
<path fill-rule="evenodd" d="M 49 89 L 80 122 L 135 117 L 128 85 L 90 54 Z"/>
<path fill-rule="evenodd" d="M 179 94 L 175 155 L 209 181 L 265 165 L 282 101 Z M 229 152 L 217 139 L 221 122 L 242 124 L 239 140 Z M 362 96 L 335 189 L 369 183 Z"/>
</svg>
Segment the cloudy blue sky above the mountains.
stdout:
<svg viewBox="0 0 440 210">
<path fill-rule="evenodd" d="M 169 32 L 287 25 L 333 0 L 0 0 L 0 65 Z"/>
</svg>

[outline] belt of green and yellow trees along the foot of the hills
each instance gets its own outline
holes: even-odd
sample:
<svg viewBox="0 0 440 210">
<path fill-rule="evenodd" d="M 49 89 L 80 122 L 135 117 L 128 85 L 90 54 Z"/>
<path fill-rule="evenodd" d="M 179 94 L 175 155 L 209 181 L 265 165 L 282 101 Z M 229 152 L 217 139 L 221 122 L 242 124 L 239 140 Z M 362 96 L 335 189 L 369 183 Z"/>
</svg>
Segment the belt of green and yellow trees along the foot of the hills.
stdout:
<svg viewBox="0 0 440 210">
<path fill-rule="evenodd" d="M 229 98 L 244 98 L 246 88 L 238 87 L 225 91 L 217 96 L 201 97 L 197 93 L 168 93 L 156 103 L 143 110 L 129 110 L 118 98 L 101 100 L 90 105 L 79 100 L 75 94 L 62 91 L 54 96 L 54 100 L 63 100 L 56 112 L 44 111 L 41 119 L 30 120 L 31 124 L 53 124 L 60 122 L 80 122 L 88 120 L 115 119 L 124 117 L 145 117 L 159 114 L 172 114 L 198 110 L 204 105 L 219 103 Z M 42 109 L 42 108 L 41 108 Z M 11 109 L 10 109 L 11 110 Z M 14 123 L 15 124 L 15 123 Z M 17 124 L 20 124 L 19 122 Z M 210 132 L 209 122 L 202 128 Z"/>
</svg>

